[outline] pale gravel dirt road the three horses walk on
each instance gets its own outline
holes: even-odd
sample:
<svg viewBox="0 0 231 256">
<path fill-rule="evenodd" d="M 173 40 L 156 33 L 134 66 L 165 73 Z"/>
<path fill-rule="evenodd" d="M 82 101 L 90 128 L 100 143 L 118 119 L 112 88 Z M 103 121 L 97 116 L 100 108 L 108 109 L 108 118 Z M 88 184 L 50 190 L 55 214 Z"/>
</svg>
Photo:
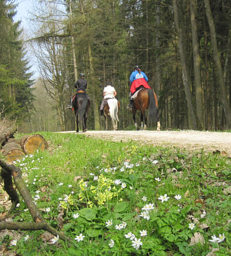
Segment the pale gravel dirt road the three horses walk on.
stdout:
<svg viewBox="0 0 231 256">
<path fill-rule="evenodd" d="M 74 131 L 72 131 L 74 132 Z M 80 133 L 82 134 L 82 133 Z M 88 137 L 111 141 L 142 141 L 152 145 L 178 146 L 188 149 L 225 151 L 231 157 L 231 133 L 197 131 L 88 131 Z"/>
</svg>

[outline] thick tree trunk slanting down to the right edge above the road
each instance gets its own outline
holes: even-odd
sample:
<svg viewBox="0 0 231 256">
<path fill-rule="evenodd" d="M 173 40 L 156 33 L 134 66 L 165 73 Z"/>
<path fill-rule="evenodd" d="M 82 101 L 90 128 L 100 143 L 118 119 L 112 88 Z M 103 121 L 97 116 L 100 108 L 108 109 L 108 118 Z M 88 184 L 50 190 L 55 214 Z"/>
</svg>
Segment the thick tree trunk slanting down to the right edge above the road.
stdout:
<svg viewBox="0 0 231 256">
<path fill-rule="evenodd" d="M 221 89 L 221 102 L 223 104 L 223 109 L 226 117 L 226 128 L 230 129 L 231 128 L 231 110 L 230 110 L 230 106 L 227 98 L 227 91 L 226 91 L 225 80 L 224 80 L 223 71 L 221 67 L 221 60 L 219 59 L 219 52 L 217 49 L 217 38 L 215 33 L 214 19 L 212 17 L 212 12 L 210 9 L 210 1 L 204 0 L 204 6 L 206 10 L 206 16 L 208 19 L 208 25 L 210 27 L 214 62 L 217 68 L 218 84 Z"/>
</svg>

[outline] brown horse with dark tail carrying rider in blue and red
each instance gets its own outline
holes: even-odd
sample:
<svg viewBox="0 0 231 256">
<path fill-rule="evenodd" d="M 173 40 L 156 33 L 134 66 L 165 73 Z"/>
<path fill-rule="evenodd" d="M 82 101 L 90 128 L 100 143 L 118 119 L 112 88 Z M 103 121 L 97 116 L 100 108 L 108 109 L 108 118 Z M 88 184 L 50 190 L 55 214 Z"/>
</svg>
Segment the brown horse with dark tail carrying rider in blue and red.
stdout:
<svg viewBox="0 0 231 256">
<path fill-rule="evenodd" d="M 138 125 L 135 120 L 135 114 L 137 110 L 140 110 L 140 121 L 141 121 L 141 130 L 147 129 L 147 116 L 145 115 L 145 110 L 149 110 L 149 119 L 151 122 L 157 122 L 157 130 L 160 131 L 160 121 L 158 113 L 158 101 L 155 91 L 152 89 L 141 89 L 137 98 L 133 101 L 133 121 L 135 127 L 138 130 Z"/>
</svg>

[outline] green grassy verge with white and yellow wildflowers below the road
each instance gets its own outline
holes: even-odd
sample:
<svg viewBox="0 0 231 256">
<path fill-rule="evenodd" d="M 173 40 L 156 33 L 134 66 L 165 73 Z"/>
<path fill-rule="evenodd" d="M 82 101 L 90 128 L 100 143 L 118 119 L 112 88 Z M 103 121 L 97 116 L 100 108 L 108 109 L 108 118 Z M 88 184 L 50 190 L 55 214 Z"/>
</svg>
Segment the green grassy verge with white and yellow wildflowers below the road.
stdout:
<svg viewBox="0 0 231 256">
<path fill-rule="evenodd" d="M 13 236 L 0 240 L 7 250 L 19 255 L 207 255 L 215 249 L 217 255 L 230 255 L 227 157 L 85 135 L 41 134 L 49 150 L 25 157 L 17 166 L 32 196 L 39 194 L 36 203 L 44 218 L 75 246 L 61 240 L 50 244 L 52 237 L 43 231 L 21 231 L 16 246 L 11 245 Z M 164 194 L 169 198 L 162 202 Z M 146 204 L 153 208 L 148 219 L 143 218 Z M 32 221 L 26 208 L 21 201 L 15 221 Z M 108 220 L 113 224 L 107 227 Z M 195 227 L 190 229 L 192 223 Z M 140 236 L 143 230 L 146 236 Z M 139 248 L 126 238 L 129 232 L 142 242 Z M 85 237 L 78 242 L 80 233 Z M 190 245 L 195 233 L 203 237 L 203 244 Z M 209 241 L 223 233 L 225 240 Z"/>
</svg>

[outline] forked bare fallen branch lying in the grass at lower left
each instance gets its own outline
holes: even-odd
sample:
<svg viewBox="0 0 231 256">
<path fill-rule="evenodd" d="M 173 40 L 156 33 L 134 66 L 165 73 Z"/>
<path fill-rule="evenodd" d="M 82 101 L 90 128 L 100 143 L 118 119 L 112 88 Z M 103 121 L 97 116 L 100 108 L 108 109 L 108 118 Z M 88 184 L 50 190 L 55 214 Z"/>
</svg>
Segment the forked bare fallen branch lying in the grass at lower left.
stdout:
<svg viewBox="0 0 231 256">
<path fill-rule="evenodd" d="M 67 240 L 69 242 L 72 241 L 71 238 L 66 237 L 62 232 L 57 231 L 54 229 L 54 227 L 50 226 L 44 219 L 43 216 L 41 216 L 41 213 L 39 212 L 36 204 L 34 204 L 32 200 L 32 196 L 30 195 L 30 192 L 28 191 L 27 185 L 23 181 L 23 178 L 21 178 L 21 169 L 14 165 L 8 165 L 5 161 L 0 159 L 0 166 L 3 168 L 1 169 L 1 176 L 3 177 L 4 181 L 8 181 L 7 179 L 10 177 L 13 177 L 14 183 L 19 191 L 19 194 L 21 194 L 21 197 L 23 198 L 25 204 L 28 207 L 28 210 L 30 211 L 30 215 L 32 216 L 34 222 L 0 222 L 0 230 L 1 229 L 13 229 L 13 230 L 39 230 L 43 229 L 46 231 L 49 231 L 52 233 L 52 235 L 57 235 L 62 240 Z M 6 177 L 6 180 L 5 180 Z M 16 196 L 17 192 L 14 190 L 12 191 L 12 178 L 11 182 L 8 181 L 8 183 L 5 183 L 5 190 L 10 196 L 10 200 L 12 200 L 12 204 L 16 204 L 16 202 L 19 202 L 18 195 Z"/>
</svg>

